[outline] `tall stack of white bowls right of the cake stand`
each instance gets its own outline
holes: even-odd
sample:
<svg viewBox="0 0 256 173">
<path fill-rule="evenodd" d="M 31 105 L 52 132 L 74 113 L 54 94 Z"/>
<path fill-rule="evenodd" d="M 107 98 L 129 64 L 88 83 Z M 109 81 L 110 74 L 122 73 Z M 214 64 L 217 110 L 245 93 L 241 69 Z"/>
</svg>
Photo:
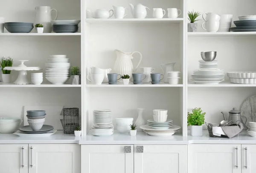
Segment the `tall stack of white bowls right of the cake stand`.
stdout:
<svg viewBox="0 0 256 173">
<path fill-rule="evenodd" d="M 45 66 L 45 77 L 52 84 L 64 84 L 70 77 L 70 61 L 67 55 L 50 55 Z"/>
</svg>

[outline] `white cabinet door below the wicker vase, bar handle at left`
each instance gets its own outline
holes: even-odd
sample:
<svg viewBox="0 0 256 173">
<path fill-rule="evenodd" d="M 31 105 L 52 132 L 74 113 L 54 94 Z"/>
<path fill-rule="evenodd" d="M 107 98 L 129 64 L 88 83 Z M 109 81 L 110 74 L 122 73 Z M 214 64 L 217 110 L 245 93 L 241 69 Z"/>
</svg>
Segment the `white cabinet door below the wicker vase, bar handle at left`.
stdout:
<svg viewBox="0 0 256 173">
<path fill-rule="evenodd" d="M 80 145 L 29 144 L 29 173 L 80 173 Z"/>
</svg>

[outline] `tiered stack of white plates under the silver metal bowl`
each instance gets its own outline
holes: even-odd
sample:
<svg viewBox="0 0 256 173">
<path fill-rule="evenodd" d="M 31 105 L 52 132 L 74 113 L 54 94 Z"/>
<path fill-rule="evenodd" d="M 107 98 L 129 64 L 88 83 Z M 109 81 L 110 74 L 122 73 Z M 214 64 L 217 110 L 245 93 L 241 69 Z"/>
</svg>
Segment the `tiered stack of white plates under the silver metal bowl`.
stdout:
<svg viewBox="0 0 256 173">
<path fill-rule="evenodd" d="M 218 84 L 224 81 L 224 70 L 218 68 L 218 61 L 199 60 L 199 70 L 194 70 L 191 81 L 198 84 Z"/>
</svg>

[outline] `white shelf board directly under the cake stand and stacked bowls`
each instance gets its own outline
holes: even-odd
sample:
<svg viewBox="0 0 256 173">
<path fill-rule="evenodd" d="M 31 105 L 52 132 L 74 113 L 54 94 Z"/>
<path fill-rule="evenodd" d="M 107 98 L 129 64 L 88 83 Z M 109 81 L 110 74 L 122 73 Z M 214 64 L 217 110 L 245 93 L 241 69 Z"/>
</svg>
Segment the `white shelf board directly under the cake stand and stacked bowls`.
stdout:
<svg viewBox="0 0 256 173">
<path fill-rule="evenodd" d="M 6 87 L 6 88 L 11 88 L 11 87 L 22 87 L 22 88 L 51 88 L 51 87 L 81 87 L 81 85 L 70 85 L 70 84 L 64 84 L 64 85 L 53 85 L 53 84 L 41 84 L 41 85 L 33 85 L 33 84 L 28 84 L 28 85 L 17 85 L 17 84 L 5 84 L 0 82 L 0 88 L 1 87 Z"/>
</svg>

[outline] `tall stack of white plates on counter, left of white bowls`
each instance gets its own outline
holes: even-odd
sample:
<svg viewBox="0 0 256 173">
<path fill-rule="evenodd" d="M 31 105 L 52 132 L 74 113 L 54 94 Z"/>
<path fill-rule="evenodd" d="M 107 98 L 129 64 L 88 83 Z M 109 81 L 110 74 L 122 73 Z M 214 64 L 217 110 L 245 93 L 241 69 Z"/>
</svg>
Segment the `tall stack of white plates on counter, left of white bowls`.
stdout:
<svg viewBox="0 0 256 173">
<path fill-rule="evenodd" d="M 93 111 L 93 126 L 91 133 L 94 136 L 109 136 L 114 133 L 111 110 Z"/>
</svg>

